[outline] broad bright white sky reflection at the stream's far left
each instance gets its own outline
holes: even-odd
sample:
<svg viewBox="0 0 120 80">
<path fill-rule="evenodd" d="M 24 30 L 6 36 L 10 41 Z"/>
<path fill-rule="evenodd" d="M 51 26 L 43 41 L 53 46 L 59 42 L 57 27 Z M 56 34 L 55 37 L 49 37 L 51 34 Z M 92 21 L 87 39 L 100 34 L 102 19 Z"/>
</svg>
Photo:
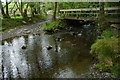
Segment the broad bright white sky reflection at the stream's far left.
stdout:
<svg viewBox="0 0 120 80">
<path fill-rule="evenodd" d="M 27 76 L 27 63 L 24 54 L 21 52 L 21 46 L 24 44 L 24 37 L 13 39 L 12 43 L 5 41 L 2 48 L 4 78 L 10 76 L 25 78 Z"/>
</svg>

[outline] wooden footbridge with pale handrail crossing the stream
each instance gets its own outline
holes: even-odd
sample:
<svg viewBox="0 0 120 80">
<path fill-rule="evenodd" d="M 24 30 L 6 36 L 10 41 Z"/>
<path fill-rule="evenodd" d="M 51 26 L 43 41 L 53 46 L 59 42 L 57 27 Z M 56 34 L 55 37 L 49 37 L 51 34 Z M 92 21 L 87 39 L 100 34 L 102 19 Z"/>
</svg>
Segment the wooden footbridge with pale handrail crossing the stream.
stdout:
<svg viewBox="0 0 120 80">
<path fill-rule="evenodd" d="M 120 8 L 119 7 L 108 7 L 105 10 L 105 21 L 111 23 L 120 23 Z M 64 9 L 60 10 L 60 15 L 64 19 L 71 20 L 98 20 L 100 8 L 81 8 L 81 9 Z"/>
</svg>

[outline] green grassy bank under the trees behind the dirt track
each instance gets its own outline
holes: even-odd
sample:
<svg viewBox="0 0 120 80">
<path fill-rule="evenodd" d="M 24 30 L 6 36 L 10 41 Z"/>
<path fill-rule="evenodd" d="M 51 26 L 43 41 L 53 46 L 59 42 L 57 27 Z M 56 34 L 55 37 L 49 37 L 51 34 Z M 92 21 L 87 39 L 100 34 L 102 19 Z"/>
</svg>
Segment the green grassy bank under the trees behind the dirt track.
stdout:
<svg viewBox="0 0 120 80">
<path fill-rule="evenodd" d="M 0 27 L 0 31 L 31 24 L 33 22 L 37 22 L 45 18 L 46 16 L 43 15 L 36 15 L 35 17 L 28 17 L 26 19 L 23 19 L 21 16 L 11 17 L 10 19 L 4 18 L 2 19 L 2 27 Z"/>
</svg>

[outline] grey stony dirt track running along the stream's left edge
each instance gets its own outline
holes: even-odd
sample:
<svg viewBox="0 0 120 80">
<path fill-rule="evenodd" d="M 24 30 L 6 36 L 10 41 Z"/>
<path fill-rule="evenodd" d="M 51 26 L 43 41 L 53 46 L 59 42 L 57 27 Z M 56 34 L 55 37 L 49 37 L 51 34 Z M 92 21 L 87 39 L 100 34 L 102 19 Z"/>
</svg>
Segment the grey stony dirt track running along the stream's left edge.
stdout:
<svg viewBox="0 0 120 80">
<path fill-rule="evenodd" d="M 18 26 L 16 28 L 6 30 L 4 32 L 0 32 L 0 40 L 4 40 L 4 39 L 11 38 L 14 36 L 21 36 L 21 35 L 28 35 L 28 34 L 40 34 L 43 32 L 40 29 L 40 26 L 50 21 L 50 19 L 51 19 L 51 16 L 49 16 L 46 20 L 40 20 L 36 23 Z"/>
</svg>

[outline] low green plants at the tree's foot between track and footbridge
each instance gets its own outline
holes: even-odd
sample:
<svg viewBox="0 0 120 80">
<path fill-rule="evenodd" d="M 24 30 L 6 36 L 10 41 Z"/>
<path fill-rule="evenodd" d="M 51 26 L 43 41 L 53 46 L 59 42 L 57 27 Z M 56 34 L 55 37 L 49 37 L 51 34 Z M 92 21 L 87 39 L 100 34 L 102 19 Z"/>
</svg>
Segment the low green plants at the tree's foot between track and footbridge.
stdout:
<svg viewBox="0 0 120 80">
<path fill-rule="evenodd" d="M 56 20 L 56 21 L 48 22 L 48 23 L 42 25 L 42 30 L 45 30 L 45 31 L 55 31 L 55 30 L 58 30 L 60 28 L 64 28 L 66 26 L 67 25 L 65 24 L 64 21 Z"/>
</svg>

